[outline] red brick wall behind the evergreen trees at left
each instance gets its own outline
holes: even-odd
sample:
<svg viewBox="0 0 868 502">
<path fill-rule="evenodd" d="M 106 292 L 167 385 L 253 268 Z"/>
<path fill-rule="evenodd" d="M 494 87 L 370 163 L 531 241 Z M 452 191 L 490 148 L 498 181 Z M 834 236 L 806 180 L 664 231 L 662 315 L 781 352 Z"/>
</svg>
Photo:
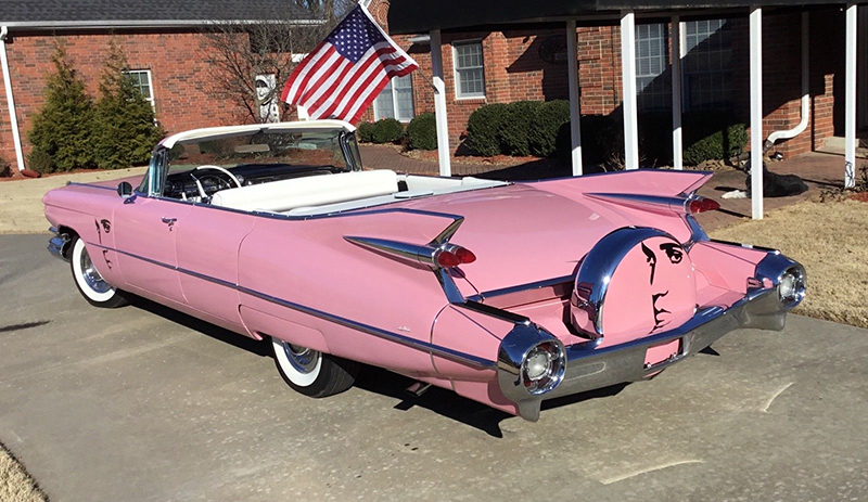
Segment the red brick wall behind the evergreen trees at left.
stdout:
<svg viewBox="0 0 868 502">
<path fill-rule="evenodd" d="M 62 37 L 16 35 L 7 43 L 7 53 L 25 155 L 29 151 L 27 131 L 41 107 L 47 77 L 53 72 L 51 56 L 55 40 L 63 40 L 88 92 L 95 98 L 110 38 L 123 48 L 131 69 L 151 70 L 156 118 L 167 132 L 243 120 L 231 104 L 208 92 L 206 47 L 202 35 L 177 31 L 88 33 Z M 15 154 L 4 92 L 0 80 L 0 157 L 13 162 Z"/>
</svg>

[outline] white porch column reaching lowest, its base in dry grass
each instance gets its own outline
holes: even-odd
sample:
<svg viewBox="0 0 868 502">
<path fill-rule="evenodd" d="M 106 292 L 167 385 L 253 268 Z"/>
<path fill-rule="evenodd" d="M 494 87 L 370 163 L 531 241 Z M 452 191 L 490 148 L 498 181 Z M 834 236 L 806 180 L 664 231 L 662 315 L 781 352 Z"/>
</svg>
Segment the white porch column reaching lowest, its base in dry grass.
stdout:
<svg viewBox="0 0 868 502">
<path fill-rule="evenodd" d="M 751 214 L 763 219 L 763 10 L 751 8 Z"/>
</svg>

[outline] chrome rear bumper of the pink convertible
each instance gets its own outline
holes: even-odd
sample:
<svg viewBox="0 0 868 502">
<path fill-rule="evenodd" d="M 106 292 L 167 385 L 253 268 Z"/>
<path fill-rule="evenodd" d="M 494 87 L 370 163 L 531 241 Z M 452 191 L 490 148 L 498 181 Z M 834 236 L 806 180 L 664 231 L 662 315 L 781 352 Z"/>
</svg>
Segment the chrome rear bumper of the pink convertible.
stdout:
<svg viewBox="0 0 868 502">
<path fill-rule="evenodd" d="M 598 347 L 599 340 L 567 346 L 566 371 L 561 384 L 542 396 L 526 396 L 515 400 L 519 414 L 523 419 L 536 421 L 539 419 L 542 400 L 647 378 L 693 356 L 733 330 L 783 330 L 787 311 L 778 300 L 776 288 L 762 289 L 745 296 L 730 308 L 703 309 L 678 329 L 665 333 L 612 347 Z M 676 356 L 650 366 L 646 365 L 649 347 L 677 339 L 681 344 Z"/>
</svg>

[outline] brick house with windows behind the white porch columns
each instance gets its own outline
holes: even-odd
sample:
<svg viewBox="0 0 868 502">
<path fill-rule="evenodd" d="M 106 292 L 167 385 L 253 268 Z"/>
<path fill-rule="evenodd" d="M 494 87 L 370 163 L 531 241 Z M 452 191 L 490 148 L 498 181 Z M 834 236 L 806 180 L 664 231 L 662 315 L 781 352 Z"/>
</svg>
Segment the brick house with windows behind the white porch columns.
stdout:
<svg viewBox="0 0 868 502">
<path fill-rule="evenodd" d="M 456 2 L 448 3 L 451 8 Z M 390 0 L 373 0 L 368 9 L 388 31 Z M 868 36 L 863 35 L 868 28 L 866 11 L 863 8 L 859 12 L 859 128 L 868 126 L 868 65 L 865 64 Z M 422 9 L 414 15 L 425 18 L 426 11 Z M 808 125 L 804 132 L 775 146 L 784 155 L 822 149 L 829 138 L 844 134 L 844 17 L 842 5 L 814 5 L 807 12 Z M 468 117 L 482 104 L 569 99 L 563 22 L 512 25 L 514 29 L 502 29 L 503 24 L 494 23 L 492 27 L 496 29 L 455 27 L 442 33 L 449 142 L 454 150 L 460 144 Z M 727 110 L 748 124 L 748 16 L 727 11 L 716 15 L 693 11 L 688 12 L 679 27 L 684 112 Z M 636 22 L 640 115 L 672 110 L 671 67 L 673 55 L 679 53 L 673 51 L 672 29 L 667 15 Z M 420 72 L 394 79 L 369 111 L 366 116 L 369 120 L 397 117 L 407 121 L 414 115 L 434 111 L 434 93 L 426 80 L 432 75 L 427 34 L 392 35 L 420 63 Z M 763 17 L 763 138 L 767 138 L 774 131 L 794 128 L 802 118 L 802 9 L 779 8 L 767 12 Z M 621 114 L 621 27 L 616 22 L 615 25 L 604 21 L 579 23 L 577 59 L 582 115 Z"/>
</svg>

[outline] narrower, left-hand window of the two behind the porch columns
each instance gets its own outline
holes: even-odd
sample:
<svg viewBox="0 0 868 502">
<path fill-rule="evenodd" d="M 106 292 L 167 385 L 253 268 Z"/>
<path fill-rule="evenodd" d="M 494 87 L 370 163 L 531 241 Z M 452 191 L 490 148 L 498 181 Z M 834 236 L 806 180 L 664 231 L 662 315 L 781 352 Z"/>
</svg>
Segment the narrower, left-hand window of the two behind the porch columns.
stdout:
<svg viewBox="0 0 868 502">
<path fill-rule="evenodd" d="M 672 103 L 668 64 L 666 25 L 636 26 L 636 88 L 640 110 L 665 110 Z"/>
</svg>

